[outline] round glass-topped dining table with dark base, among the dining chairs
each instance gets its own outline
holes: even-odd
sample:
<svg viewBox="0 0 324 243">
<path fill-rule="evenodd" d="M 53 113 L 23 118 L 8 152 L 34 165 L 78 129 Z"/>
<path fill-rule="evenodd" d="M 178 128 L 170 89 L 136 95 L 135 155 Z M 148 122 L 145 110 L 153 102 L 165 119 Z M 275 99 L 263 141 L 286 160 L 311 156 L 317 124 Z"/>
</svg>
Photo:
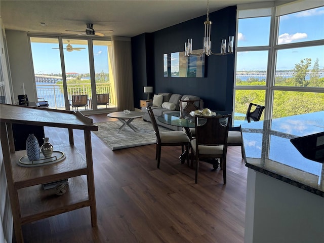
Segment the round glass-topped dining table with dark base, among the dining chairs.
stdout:
<svg viewBox="0 0 324 243">
<path fill-rule="evenodd" d="M 221 111 L 221 110 L 213 110 L 217 115 L 227 115 L 231 114 L 230 111 Z M 182 127 L 185 129 L 186 133 L 188 134 L 190 140 L 192 139 L 192 134 L 190 131 L 190 128 L 195 128 L 195 121 L 194 116 L 186 116 L 186 117 L 180 117 L 180 111 L 174 111 L 170 113 L 163 114 L 161 116 L 157 117 L 157 120 L 159 120 L 161 123 L 176 126 L 176 127 Z M 231 120 L 229 120 L 229 123 L 231 123 Z M 190 155 L 190 153 L 189 153 Z M 184 161 L 186 159 L 186 151 L 184 151 L 179 156 L 181 164 L 184 164 Z M 204 160 L 205 161 L 205 160 Z M 218 159 L 208 159 L 206 162 L 213 165 L 214 169 L 217 169 L 219 166 Z M 191 165 L 193 167 L 193 165 Z"/>
</svg>

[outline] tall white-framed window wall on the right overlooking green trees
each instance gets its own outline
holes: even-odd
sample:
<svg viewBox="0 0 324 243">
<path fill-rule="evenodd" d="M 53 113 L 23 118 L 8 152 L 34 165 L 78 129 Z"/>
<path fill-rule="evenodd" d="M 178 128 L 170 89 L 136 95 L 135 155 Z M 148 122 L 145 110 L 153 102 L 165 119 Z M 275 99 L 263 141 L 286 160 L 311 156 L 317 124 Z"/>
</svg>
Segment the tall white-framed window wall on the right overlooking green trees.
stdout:
<svg viewBox="0 0 324 243">
<path fill-rule="evenodd" d="M 324 7 L 318 5 L 238 6 L 234 126 L 250 102 L 265 105 L 261 119 L 324 110 Z"/>
</svg>

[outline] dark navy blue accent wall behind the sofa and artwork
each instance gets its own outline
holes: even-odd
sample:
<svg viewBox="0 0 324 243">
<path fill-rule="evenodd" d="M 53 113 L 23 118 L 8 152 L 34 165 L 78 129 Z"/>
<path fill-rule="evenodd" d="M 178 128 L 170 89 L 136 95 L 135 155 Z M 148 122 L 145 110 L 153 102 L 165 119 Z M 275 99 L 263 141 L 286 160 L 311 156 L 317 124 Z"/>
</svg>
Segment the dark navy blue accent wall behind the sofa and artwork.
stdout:
<svg viewBox="0 0 324 243">
<path fill-rule="evenodd" d="M 212 21 L 212 51 L 219 53 L 221 39 L 227 39 L 228 44 L 228 36 L 235 36 L 236 6 L 210 13 L 209 20 Z M 155 94 L 166 92 L 196 95 L 204 100 L 205 107 L 232 111 L 234 54 L 206 56 L 206 74 L 203 78 L 164 77 L 163 54 L 183 52 L 187 38 L 192 38 L 194 50 L 203 49 L 205 21 L 206 15 L 132 38 L 136 108 L 140 108 L 140 99 L 146 99 L 143 86 L 153 86 Z"/>
</svg>

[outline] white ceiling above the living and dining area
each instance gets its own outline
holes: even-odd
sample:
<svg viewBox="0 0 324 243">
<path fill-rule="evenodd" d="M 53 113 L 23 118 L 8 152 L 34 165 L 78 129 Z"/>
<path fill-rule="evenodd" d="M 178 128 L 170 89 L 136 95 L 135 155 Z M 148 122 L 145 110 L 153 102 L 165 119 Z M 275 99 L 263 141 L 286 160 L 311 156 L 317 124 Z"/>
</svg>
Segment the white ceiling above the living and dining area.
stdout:
<svg viewBox="0 0 324 243">
<path fill-rule="evenodd" d="M 210 0 L 209 12 L 237 4 L 266 0 Z M 113 30 L 106 36 L 133 37 L 206 15 L 206 0 L 146 1 L 0 1 L 5 29 L 26 32 L 78 34 L 65 30 Z M 45 22 L 46 26 L 41 26 Z M 203 28 L 203 23 L 201 23 Z M 104 33 L 104 32 L 103 32 Z"/>
</svg>

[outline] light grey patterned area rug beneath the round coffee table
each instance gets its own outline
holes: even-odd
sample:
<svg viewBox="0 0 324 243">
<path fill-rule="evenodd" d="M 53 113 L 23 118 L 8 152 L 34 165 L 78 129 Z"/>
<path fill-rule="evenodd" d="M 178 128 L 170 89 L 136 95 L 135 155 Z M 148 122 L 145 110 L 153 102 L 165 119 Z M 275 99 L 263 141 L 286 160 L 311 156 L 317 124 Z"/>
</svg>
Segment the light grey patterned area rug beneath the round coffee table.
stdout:
<svg viewBox="0 0 324 243">
<path fill-rule="evenodd" d="M 134 132 L 130 127 L 125 127 L 120 133 L 121 121 L 107 121 L 105 123 L 95 123 L 98 126 L 96 134 L 111 150 L 143 146 L 156 143 L 153 126 L 143 118 L 136 118 L 131 123 L 139 132 Z M 160 133 L 171 131 L 165 127 L 158 127 Z"/>
</svg>

